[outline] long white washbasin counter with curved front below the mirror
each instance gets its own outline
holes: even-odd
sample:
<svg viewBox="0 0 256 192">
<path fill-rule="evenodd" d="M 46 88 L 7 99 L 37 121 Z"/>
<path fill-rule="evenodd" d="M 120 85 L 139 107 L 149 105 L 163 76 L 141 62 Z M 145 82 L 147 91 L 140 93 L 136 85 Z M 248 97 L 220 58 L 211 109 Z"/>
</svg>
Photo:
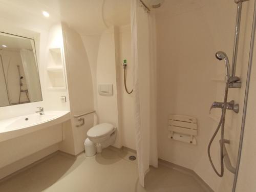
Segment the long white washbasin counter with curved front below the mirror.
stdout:
<svg viewBox="0 0 256 192">
<path fill-rule="evenodd" d="M 0 142 L 53 126 L 70 119 L 69 111 L 45 111 L 0 120 Z"/>
</svg>

